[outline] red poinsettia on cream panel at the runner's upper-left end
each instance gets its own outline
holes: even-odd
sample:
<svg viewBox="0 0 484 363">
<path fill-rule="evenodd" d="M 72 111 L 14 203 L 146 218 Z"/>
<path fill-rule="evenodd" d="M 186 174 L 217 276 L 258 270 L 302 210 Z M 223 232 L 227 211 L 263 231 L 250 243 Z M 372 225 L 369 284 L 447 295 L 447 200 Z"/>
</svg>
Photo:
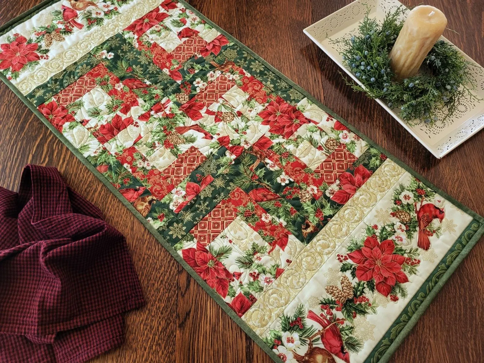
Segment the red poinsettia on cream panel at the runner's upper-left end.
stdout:
<svg viewBox="0 0 484 363">
<path fill-rule="evenodd" d="M 38 61 L 40 57 L 35 53 L 38 47 L 37 43 L 27 44 L 23 36 L 16 37 L 10 44 L 0 45 L 0 70 L 12 67 L 12 72 L 18 72 L 27 63 Z"/>
</svg>

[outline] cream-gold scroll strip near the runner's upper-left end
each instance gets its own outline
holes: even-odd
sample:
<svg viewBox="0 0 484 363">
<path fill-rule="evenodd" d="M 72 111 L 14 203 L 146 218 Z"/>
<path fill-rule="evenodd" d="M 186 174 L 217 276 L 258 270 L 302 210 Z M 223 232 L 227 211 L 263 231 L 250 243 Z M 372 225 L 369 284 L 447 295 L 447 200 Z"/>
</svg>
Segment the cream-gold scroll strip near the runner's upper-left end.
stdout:
<svg viewBox="0 0 484 363">
<path fill-rule="evenodd" d="M 83 55 L 89 53 L 92 48 L 105 42 L 136 19 L 160 6 L 162 2 L 163 0 L 139 0 L 136 6 L 132 6 L 126 12 L 109 19 L 103 26 L 95 28 L 90 34 L 81 38 L 79 42 L 71 45 L 69 49 L 46 61 L 15 86 L 24 95 L 30 93 L 35 87 L 45 83 L 50 77 L 78 61 Z"/>
</svg>

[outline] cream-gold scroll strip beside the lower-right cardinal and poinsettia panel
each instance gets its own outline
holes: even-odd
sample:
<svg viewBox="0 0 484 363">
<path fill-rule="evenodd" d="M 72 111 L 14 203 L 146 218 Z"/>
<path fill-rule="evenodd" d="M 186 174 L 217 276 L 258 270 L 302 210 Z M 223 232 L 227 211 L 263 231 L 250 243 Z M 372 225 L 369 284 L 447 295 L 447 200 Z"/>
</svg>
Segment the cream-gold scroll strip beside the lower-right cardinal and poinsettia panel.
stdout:
<svg viewBox="0 0 484 363">
<path fill-rule="evenodd" d="M 282 315 L 324 262 L 343 243 L 405 170 L 387 159 L 274 281 L 242 319 L 261 336 Z"/>
</svg>

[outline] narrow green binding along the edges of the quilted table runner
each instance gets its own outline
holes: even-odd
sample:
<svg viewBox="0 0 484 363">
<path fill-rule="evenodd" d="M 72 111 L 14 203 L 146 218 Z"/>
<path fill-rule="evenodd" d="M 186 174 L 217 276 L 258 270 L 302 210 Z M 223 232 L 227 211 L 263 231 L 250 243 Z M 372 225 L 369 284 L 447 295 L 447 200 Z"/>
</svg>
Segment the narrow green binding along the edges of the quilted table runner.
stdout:
<svg viewBox="0 0 484 363">
<path fill-rule="evenodd" d="M 432 302 L 432 300 L 435 298 L 435 296 L 437 295 L 437 293 L 439 292 L 439 290 L 442 288 L 442 286 L 445 284 L 445 282 L 450 278 L 450 276 L 455 271 L 455 269 L 457 268 L 457 266 L 469 254 L 469 252 L 472 249 L 472 247 L 479 241 L 479 239 L 481 238 L 481 236 L 484 234 L 484 218 L 481 217 L 476 212 L 470 210 L 466 206 L 462 205 L 458 201 L 454 200 L 454 198 L 450 197 L 447 193 L 445 193 L 444 191 L 440 190 L 438 187 L 436 187 L 431 182 L 427 181 L 425 178 L 423 178 L 422 175 L 418 174 L 417 172 L 415 172 L 414 170 L 412 170 L 411 168 L 409 168 L 401 160 L 395 158 L 391 153 L 389 153 L 388 151 L 384 150 L 379 145 L 376 145 L 372 140 L 370 140 L 368 137 L 366 137 L 365 135 L 363 135 L 358 129 L 356 129 L 352 125 L 348 124 L 347 121 L 343 120 L 338 115 L 334 114 L 332 110 L 330 110 L 328 107 L 322 105 L 316 98 L 314 98 L 313 96 L 311 96 L 310 94 L 308 94 L 300 86 L 298 86 L 297 84 L 295 84 L 293 81 L 291 81 L 286 76 L 284 76 L 282 73 L 280 73 L 278 70 L 276 70 L 274 67 L 272 67 L 267 61 L 265 61 L 262 58 L 260 58 L 257 54 L 255 54 L 248 47 L 246 47 L 245 45 L 243 45 L 241 42 L 239 42 L 237 39 L 235 39 L 231 35 L 227 34 L 227 32 L 225 32 L 224 30 L 222 30 L 216 24 L 212 23 L 212 21 L 210 21 L 209 19 L 207 19 L 207 17 L 205 17 L 204 15 L 200 14 L 197 11 L 197 9 L 195 9 L 193 6 L 191 6 L 190 4 L 187 4 L 183 0 L 179 0 L 179 1 L 181 3 L 183 3 L 186 8 L 190 9 L 191 11 L 193 11 L 194 13 L 196 13 L 197 15 L 199 15 L 201 18 L 203 18 L 213 28 L 215 28 L 216 30 L 218 30 L 221 33 L 223 33 L 224 35 L 226 35 L 227 38 L 230 41 L 232 41 L 235 44 L 237 44 L 238 46 L 240 46 L 242 49 L 244 49 L 246 52 L 248 52 L 250 55 L 252 55 L 258 61 L 261 61 L 274 74 L 276 74 L 277 76 L 281 77 L 290 86 L 292 86 L 297 91 L 301 92 L 305 97 L 307 97 L 309 100 L 311 100 L 313 103 L 315 103 L 318 107 L 322 108 L 328 114 L 332 115 L 335 119 L 337 119 L 338 121 L 340 121 L 341 123 L 343 123 L 345 126 L 347 126 L 351 131 L 353 131 L 356 134 L 358 134 L 358 136 L 362 137 L 363 140 L 365 140 L 368 144 L 370 144 L 371 146 L 373 146 L 374 148 L 376 148 L 377 150 L 379 150 L 383 154 L 387 155 L 397 165 L 399 165 L 402 168 L 404 168 L 411 175 L 413 175 L 416 178 L 420 179 L 421 181 L 425 182 L 425 184 L 427 184 L 430 188 L 432 188 L 434 191 L 436 191 L 437 193 L 439 193 L 439 195 L 441 195 L 442 197 L 444 197 L 447 200 L 451 201 L 456 207 L 458 207 L 461 210 L 463 210 L 464 212 L 468 213 L 477 222 L 479 222 L 481 224 L 481 226 L 479 227 L 479 229 L 475 232 L 475 234 L 473 235 L 473 237 L 465 245 L 465 247 L 462 249 L 462 251 L 460 252 L 460 254 L 455 258 L 455 260 L 449 266 L 449 268 L 446 270 L 446 272 L 440 277 L 439 282 L 428 293 L 428 295 L 426 296 L 426 298 L 423 300 L 423 302 L 420 304 L 420 306 L 416 309 L 415 313 L 408 320 L 408 323 L 405 325 L 405 327 L 400 331 L 400 333 L 393 340 L 393 342 L 391 343 L 391 345 L 385 350 L 385 353 L 383 354 L 383 356 L 381 357 L 381 359 L 378 360 L 378 363 L 386 363 L 390 359 L 390 357 L 392 356 L 392 354 L 394 353 L 394 351 L 402 343 L 403 339 L 408 335 L 408 333 L 411 331 L 411 329 L 415 326 L 415 324 L 417 323 L 418 319 L 422 316 L 422 314 L 424 313 L 424 311 L 426 310 L 426 308 L 428 307 L 428 305 L 430 304 L 430 302 Z M 47 7 L 50 4 L 55 3 L 55 2 L 57 2 L 57 1 L 55 1 L 55 0 L 45 0 L 45 1 L 41 2 L 40 4 L 38 4 L 37 6 L 31 8 L 29 11 L 27 11 L 27 12 L 25 12 L 25 13 L 17 16 L 17 17 L 15 17 L 11 21 L 7 22 L 6 24 L 4 24 L 3 26 L 0 27 L 0 35 L 3 34 L 3 33 L 5 33 L 6 31 L 8 31 L 9 29 L 15 27 L 15 25 L 17 23 L 21 22 L 25 18 L 29 18 L 29 17 L 35 15 L 36 13 L 38 13 L 39 11 L 41 11 L 42 9 L 44 9 L 45 7 Z M 35 106 L 33 106 L 32 103 L 30 103 L 30 101 L 27 100 L 27 98 L 20 91 L 18 91 L 18 89 L 16 89 L 15 86 L 3 74 L 1 74 L 1 73 L 0 73 L 0 79 L 15 93 L 15 95 L 17 95 L 22 100 L 22 102 L 27 107 L 30 108 L 30 110 L 33 113 L 35 113 L 39 117 L 39 119 L 42 122 L 45 123 L 45 125 L 50 129 L 50 131 L 52 131 L 62 141 L 62 143 L 65 146 L 67 146 L 67 148 L 76 155 L 76 157 L 81 161 L 81 163 L 84 164 L 89 170 L 91 170 L 91 172 L 94 173 L 94 175 L 103 184 L 105 184 L 106 187 L 116 197 L 118 197 L 118 199 L 121 201 L 121 203 L 124 204 L 124 206 L 126 208 L 128 208 L 128 210 L 130 210 L 132 213 L 135 214 L 136 218 L 138 218 L 138 220 L 146 228 L 148 228 L 148 230 L 156 238 L 156 240 L 158 242 L 160 242 L 165 247 L 165 249 L 183 266 L 183 268 L 212 297 L 212 299 L 214 299 L 215 302 L 217 302 L 220 305 L 220 307 L 230 316 L 230 318 L 232 318 L 237 323 L 237 325 L 239 325 L 242 328 L 242 330 L 247 335 L 249 335 L 257 343 L 257 345 L 259 347 L 261 347 L 274 361 L 276 361 L 276 362 L 282 362 L 277 357 L 277 355 L 272 351 L 272 349 L 269 348 L 262 341 L 262 339 L 260 339 L 259 336 L 241 318 L 239 318 L 239 316 L 227 305 L 226 302 L 224 302 L 224 300 L 220 297 L 220 295 L 218 295 L 211 287 L 209 287 L 207 285 L 207 283 L 205 281 L 203 281 L 200 278 L 200 276 L 198 276 L 197 273 L 188 266 L 188 264 L 183 260 L 183 258 L 170 246 L 170 244 L 168 242 L 165 241 L 165 239 L 158 233 L 158 231 L 156 229 L 154 229 L 151 226 L 151 224 L 145 218 L 143 218 L 143 216 L 141 214 L 139 214 L 139 212 L 136 211 L 136 209 L 133 207 L 133 205 L 131 203 L 129 203 L 124 197 L 122 197 L 121 193 L 116 188 L 114 188 L 111 185 L 111 183 L 109 181 L 107 181 L 106 178 L 104 178 L 104 176 L 99 171 L 97 171 L 96 168 L 94 166 L 92 166 L 91 163 L 89 163 L 89 161 L 51 123 L 48 122 L 45 119 L 45 117 L 40 113 L 40 111 Z M 455 246 L 458 244 L 458 242 L 459 242 L 459 240 L 461 238 L 462 238 L 462 236 L 459 237 L 459 239 L 456 242 L 454 242 L 454 245 L 453 245 L 452 248 L 455 248 Z M 435 275 L 435 273 L 432 274 L 432 275 L 430 275 L 429 278 L 433 277 L 434 275 Z M 422 286 L 424 286 L 424 285 L 425 285 L 425 283 Z M 417 292 L 417 294 L 418 294 L 418 292 Z M 415 301 L 415 297 L 417 296 L 417 294 L 415 294 L 413 296 L 412 301 L 409 302 L 409 304 L 410 303 L 413 303 Z M 402 315 L 403 314 L 404 314 L 404 312 L 402 312 Z M 402 315 L 400 315 L 395 321 L 397 321 L 398 319 L 400 319 Z M 394 324 L 395 324 L 395 322 L 393 323 L 393 325 Z M 391 328 L 389 330 L 391 330 Z M 388 333 L 388 331 L 385 333 L 384 337 L 387 335 L 387 333 Z M 380 340 L 380 342 L 377 344 L 376 348 L 378 348 L 378 346 L 380 346 L 381 343 L 382 343 L 382 340 Z M 372 351 L 371 354 L 374 354 L 374 351 Z M 368 358 L 370 358 L 370 355 L 368 356 Z"/>
</svg>

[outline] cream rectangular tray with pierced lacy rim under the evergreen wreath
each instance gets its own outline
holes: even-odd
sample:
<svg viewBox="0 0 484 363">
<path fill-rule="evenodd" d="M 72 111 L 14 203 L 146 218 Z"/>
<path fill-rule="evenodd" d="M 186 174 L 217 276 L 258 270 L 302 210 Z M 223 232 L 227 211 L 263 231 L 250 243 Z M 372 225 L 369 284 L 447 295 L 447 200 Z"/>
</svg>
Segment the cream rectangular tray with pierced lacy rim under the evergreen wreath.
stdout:
<svg viewBox="0 0 484 363">
<path fill-rule="evenodd" d="M 362 86 L 360 81 L 343 65 L 342 56 L 339 54 L 339 51 L 342 50 L 341 45 L 331 41 L 349 38 L 351 34 L 357 34 L 359 23 L 363 20 L 367 6 L 371 9 L 370 17 L 376 17 L 381 21 L 386 13 L 393 11 L 400 5 L 402 4 L 397 0 L 357 0 L 307 27 L 304 29 L 304 33 L 348 73 L 356 83 Z M 448 42 L 444 37 L 441 37 L 441 39 Z M 484 99 L 483 67 L 460 49 L 459 51 L 467 60 L 472 62 L 471 72 L 474 73 L 477 83 L 477 89 L 474 93 L 477 98 Z M 452 118 L 443 120 L 443 115 L 440 115 L 439 120 L 434 122 L 432 126 L 426 125 L 422 120 L 416 120 L 412 126 L 408 125 L 398 117 L 398 109 L 389 108 L 382 100 L 377 99 L 376 101 L 439 159 L 484 127 L 484 101 L 471 97 L 463 100 Z"/>
</svg>

